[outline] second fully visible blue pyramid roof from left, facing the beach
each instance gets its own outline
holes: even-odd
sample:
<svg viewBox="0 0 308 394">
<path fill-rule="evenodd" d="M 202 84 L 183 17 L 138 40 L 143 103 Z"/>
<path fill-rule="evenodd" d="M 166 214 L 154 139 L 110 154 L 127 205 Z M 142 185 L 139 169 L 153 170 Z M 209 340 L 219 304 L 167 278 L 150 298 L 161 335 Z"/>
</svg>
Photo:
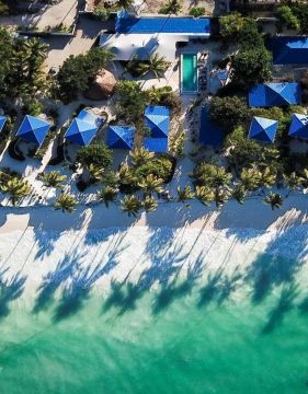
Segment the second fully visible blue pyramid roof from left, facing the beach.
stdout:
<svg viewBox="0 0 308 394">
<path fill-rule="evenodd" d="M 82 109 L 70 124 L 65 138 L 80 146 L 88 146 L 95 137 L 102 123 L 101 118 Z"/>
</svg>

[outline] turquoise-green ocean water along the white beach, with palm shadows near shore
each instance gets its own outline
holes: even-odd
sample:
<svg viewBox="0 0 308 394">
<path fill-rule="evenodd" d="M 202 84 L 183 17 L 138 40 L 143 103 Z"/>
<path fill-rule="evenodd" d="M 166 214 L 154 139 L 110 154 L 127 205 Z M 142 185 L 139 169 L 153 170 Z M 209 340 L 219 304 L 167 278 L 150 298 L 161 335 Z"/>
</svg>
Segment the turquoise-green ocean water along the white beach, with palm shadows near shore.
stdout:
<svg viewBox="0 0 308 394">
<path fill-rule="evenodd" d="M 305 289 L 229 299 L 232 286 L 216 282 L 114 282 L 41 311 L 12 302 L 0 321 L 0 393 L 308 393 Z"/>
</svg>

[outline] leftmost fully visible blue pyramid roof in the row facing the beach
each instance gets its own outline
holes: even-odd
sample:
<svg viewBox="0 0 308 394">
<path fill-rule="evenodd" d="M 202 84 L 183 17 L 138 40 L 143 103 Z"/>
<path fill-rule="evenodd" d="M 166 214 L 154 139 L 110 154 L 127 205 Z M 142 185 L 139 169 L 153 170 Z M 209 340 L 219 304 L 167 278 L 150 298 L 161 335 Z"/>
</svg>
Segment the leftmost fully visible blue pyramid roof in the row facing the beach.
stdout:
<svg viewBox="0 0 308 394">
<path fill-rule="evenodd" d="M 18 137 L 41 146 L 49 128 L 50 124 L 48 121 L 26 115 L 18 130 Z"/>
</svg>

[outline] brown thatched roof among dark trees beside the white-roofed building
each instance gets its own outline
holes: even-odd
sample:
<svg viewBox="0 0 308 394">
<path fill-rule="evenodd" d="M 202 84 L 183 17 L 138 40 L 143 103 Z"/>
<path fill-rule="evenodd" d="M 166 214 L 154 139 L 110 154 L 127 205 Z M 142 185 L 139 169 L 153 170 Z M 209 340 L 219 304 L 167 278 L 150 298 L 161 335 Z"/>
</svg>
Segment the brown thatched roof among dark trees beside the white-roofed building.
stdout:
<svg viewBox="0 0 308 394">
<path fill-rule="evenodd" d="M 116 86 L 116 79 L 107 70 L 101 70 L 95 80 L 91 83 L 84 96 L 90 100 L 104 100 L 113 95 Z"/>
</svg>

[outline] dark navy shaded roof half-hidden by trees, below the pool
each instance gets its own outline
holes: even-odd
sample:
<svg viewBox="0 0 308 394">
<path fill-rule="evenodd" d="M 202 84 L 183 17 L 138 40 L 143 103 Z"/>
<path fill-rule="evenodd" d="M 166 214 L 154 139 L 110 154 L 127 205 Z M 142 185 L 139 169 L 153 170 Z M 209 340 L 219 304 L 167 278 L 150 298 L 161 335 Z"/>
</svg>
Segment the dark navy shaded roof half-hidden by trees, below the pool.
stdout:
<svg viewBox="0 0 308 394">
<path fill-rule="evenodd" d="M 224 140 L 223 130 L 208 119 L 208 108 L 206 106 L 203 106 L 201 111 L 198 140 L 201 143 L 212 147 L 221 146 Z"/>
</svg>

